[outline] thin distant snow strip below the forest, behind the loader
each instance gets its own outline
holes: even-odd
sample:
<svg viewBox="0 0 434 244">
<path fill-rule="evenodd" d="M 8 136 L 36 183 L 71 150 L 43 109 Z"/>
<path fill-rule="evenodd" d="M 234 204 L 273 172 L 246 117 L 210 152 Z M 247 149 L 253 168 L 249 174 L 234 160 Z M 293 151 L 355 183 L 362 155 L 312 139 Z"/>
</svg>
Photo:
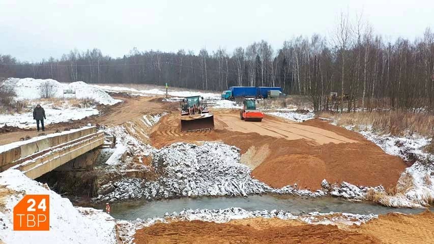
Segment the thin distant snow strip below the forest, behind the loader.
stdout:
<svg viewBox="0 0 434 244">
<path fill-rule="evenodd" d="M 129 92 L 134 94 L 144 94 L 144 95 L 165 95 L 166 90 L 164 88 L 161 89 L 148 89 L 148 90 L 138 90 L 135 88 L 128 88 L 128 87 L 122 87 L 122 86 L 110 86 L 110 85 L 94 85 L 97 88 L 100 88 L 102 90 L 105 90 L 106 92 L 112 92 L 112 93 L 119 93 L 119 92 Z M 220 94 L 217 93 L 204 93 L 204 92 L 190 92 L 188 90 L 185 91 L 173 91 L 169 90 L 167 92 L 169 96 L 172 97 L 179 97 L 179 98 L 185 98 L 190 96 L 201 96 L 204 97 L 206 100 L 217 100 L 220 99 Z"/>
</svg>

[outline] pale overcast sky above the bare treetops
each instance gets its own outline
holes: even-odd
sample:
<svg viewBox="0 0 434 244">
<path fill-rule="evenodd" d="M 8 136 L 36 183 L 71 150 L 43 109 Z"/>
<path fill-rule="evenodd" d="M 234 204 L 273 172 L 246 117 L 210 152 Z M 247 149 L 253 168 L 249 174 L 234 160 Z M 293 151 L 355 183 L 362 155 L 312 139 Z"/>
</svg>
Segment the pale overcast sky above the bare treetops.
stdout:
<svg viewBox="0 0 434 244">
<path fill-rule="evenodd" d="M 29 62 L 94 47 L 113 57 L 133 47 L 232 53 L 262 39 L 276 50 L 294 36 L 330 36 L 341 11 L 363 12 L 388 40 L 434 31 L 434 0 L 0 0 L 0 53 Z"/>
</svg>

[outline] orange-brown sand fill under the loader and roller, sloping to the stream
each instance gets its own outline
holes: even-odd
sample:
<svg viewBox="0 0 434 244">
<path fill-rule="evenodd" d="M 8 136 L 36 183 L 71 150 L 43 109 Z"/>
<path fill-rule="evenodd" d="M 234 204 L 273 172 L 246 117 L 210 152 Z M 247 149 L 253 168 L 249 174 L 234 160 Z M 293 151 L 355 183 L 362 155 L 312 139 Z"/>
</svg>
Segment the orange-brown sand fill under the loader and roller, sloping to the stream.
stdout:
<svg viewBox="0 0 434 244">
<path fill-rule="evenodd" d="M 312 119 L 294 123 L 266 115 L 262 122 L 243 121 L 238 110 L 214 109 L 215 130 L 184 133 L 180 115 L 163 116 L 150 141 L 158 148 L 174 142 L 222 141 L 241 149 L 241 162 L 252 176 L 281 188 L 321 189 L 321 181 L 342 181 L 359 186 L 396 185 L 406 168 L 402 159 L 390 156 L 362 135 Z"/>
</svg>

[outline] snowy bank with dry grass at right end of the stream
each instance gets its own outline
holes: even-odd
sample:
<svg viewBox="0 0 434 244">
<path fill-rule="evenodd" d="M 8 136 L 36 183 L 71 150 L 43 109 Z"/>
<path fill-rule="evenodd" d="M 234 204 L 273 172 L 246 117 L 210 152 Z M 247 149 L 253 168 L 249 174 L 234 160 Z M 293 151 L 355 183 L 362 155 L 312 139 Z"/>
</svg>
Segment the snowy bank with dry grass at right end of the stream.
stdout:
<svg viewBox="0 0 434 244">
<path fill-rule="evenodd" d="M 353 126 L 346 126 L 345 128 L 355 129 Z M 371 200 L 391 207 L 429 206 L 434 199 L 434 155 L 426 153 L 423 148 L 432 139 L 418 135 L 406 137 L 379 135 L 373 132 L 370 127 L 358 132 L 380 146 L 385 153 L 413 163 L 402 172 L 394 195 L 388 195 L 384 189 L 373 189 L 369 193 Z M 373 195 L 375 197 L 372 197 Z M 366 195 L 365 197 L 369 196 Z"/>
</svg>

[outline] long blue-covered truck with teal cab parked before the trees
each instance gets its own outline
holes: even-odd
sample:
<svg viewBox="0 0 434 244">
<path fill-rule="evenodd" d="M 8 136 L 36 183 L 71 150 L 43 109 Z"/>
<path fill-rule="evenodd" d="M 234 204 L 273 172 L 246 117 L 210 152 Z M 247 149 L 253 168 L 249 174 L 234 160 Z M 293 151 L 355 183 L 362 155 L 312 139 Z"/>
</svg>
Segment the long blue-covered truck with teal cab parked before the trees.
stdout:
<svg viewBox="0 0 434 244">
<path fill-rule="evenodd" d="M 233 100 L 235 98 L 267 98 L 269 90 L 279 90 L 280 87 L 267 86 L 230 86 L 229 90 L 224 90 L 221 98 L 225 100 Z"/>
</svg>

